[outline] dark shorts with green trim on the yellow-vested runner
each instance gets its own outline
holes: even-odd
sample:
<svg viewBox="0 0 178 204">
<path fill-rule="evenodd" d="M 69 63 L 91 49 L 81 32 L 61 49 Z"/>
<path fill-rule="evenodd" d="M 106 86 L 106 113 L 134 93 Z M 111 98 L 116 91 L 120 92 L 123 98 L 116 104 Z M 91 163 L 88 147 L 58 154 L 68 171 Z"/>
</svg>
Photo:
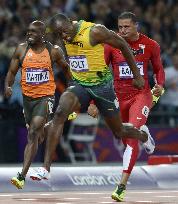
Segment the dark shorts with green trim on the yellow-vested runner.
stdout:
<svg viewBox="0 0 178 204">
<path fill-rule="evenodd" d="M 119 103 L 114 92 L 113 81 L 109 80 L 95 86 L 84 86 L 74 81 L 73 86 L 68 88 L 79 99 L 81 109 L 87 111 L 91 100 L 103 116 L 114 116 L 119 112 Z"/>
</svg>

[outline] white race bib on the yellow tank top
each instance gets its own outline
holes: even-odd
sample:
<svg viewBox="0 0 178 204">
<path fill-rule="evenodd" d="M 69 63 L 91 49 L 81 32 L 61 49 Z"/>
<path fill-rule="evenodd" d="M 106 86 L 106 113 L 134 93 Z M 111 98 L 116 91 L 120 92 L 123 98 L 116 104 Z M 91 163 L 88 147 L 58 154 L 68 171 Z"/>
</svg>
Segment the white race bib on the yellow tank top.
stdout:
<svg viewBox="0 0 178 204">
<path fill-rule="evenodd" d="M 70 69 L 74 72 L 87 72 L 88 62 L 84 55 L 69 57 Z"/>
</svg>

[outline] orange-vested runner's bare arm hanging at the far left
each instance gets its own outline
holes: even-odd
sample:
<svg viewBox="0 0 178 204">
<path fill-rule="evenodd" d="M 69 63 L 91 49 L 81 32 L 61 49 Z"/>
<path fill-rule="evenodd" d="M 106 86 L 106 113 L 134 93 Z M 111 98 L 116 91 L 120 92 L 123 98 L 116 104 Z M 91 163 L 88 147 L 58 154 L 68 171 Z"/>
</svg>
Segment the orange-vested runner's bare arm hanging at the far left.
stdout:
<svg viewBox="0 0 178 204">
<path fill-rule="evenodd" d="M 15 76 L 19 69 L 21 46 L 17 46 L 7 72 L 5 79 L 5 96 L 10 97 L 12 94 L 12 85 L 14 84 Z"/>
</svg>

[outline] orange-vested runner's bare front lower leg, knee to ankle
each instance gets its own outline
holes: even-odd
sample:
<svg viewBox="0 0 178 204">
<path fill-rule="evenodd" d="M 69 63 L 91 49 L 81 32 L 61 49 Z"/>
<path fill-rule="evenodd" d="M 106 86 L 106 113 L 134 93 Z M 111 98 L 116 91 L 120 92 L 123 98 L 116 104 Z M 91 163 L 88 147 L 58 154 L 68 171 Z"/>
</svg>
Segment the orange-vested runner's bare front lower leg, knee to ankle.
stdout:
<svg viewBox="0 0 178 204">
<path fill-rule="evenodd" d="M 24 177 L 26 176 L 29 170 L 29 167 L 37 153 L 38 140 L 45 122 L 46 122 L 46 118 L 41 116 L 35 116 L 32 118 L 31 124 L 28 128 L 28 136 L 27 136 L 28 143 L 24 151 L 24 163 L 23 163 L 23 169 L 21 173 Z"/>
</svg>

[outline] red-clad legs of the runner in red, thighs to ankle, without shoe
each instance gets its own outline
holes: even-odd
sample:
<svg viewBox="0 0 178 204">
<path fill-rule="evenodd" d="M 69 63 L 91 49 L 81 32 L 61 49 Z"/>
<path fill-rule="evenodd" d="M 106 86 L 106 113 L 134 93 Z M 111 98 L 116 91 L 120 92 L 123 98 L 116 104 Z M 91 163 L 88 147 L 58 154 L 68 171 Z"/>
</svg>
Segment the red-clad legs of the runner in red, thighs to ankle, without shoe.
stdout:
<svg viewBox="0 0 178 204">
<path fill-rule="evenodd" d="M 152 96 L 149 93 L 144 93 L 139 94 L 136 97 L 136 100 L 131 98 L 130 100 L 120 101 L 120 108 L 122 120 L 133 124 L 136 128 L 140 128 L 147 121 L 148 112 L 152 104 Z M 122 139 L 122 141 L 126 146 L 126 149 L 123 155 L 123 173 L 121 183 L 126 185 L 138 158 L 139 141 L 138 139 L 131 138 Z"/>
</svg>

